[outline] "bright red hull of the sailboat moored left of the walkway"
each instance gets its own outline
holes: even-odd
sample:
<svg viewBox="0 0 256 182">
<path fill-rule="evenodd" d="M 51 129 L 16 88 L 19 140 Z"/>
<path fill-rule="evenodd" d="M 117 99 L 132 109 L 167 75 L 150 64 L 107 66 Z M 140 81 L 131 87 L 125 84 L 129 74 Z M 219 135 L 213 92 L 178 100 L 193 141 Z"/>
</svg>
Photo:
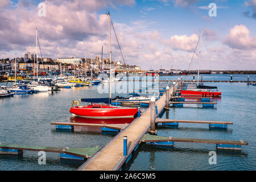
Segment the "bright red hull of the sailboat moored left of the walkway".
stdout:
<svg viewBox="0 0 256 182">
<path fill-rule="evenodd" d="M 132 118 L 138 108 L 117 107 L 109 105 L 89 105 L 71 107 L 69 112 L 85 118 Z"/>
</svg>

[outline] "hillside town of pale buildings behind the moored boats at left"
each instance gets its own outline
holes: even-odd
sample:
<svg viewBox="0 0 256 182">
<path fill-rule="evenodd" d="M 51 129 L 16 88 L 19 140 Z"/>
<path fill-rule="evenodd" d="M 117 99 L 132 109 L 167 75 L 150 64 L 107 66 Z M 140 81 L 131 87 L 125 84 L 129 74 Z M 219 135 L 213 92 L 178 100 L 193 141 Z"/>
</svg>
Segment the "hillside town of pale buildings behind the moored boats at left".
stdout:
<svg viewBox="0 0 256 182">
<path fill-rule="evenodd" d="M 2 75 L 13 73 L 15 70 L 15 59 L 0 59 L 0 73 Z M 38 63 L 38 64 L 36 64 Z M 36 74 L 35 70 L 38 69 L 38 74 L 44 75 L 59 75 L 77 73 L 88 73 L 92 69 L 93 75 L 97 75 L 100 72 L 109 72 L 110 60 L 100 59 L 98 56 L 95 59 L 88 59 L 86 57 L 61 57 L 58 59 L 52 59 L 50 57 L 40 58 L 36 54 L 27 52 L 24 57 L 17 57 L 16 59 L 16 71 L 21 74 Z M 120 61 L 112 60 L 112 69 L 115 72 L 127 72 L 127 71 L 141 71 L 141 68 L 137 65 L 126 65 L 120 63 Z"/>
</svg>

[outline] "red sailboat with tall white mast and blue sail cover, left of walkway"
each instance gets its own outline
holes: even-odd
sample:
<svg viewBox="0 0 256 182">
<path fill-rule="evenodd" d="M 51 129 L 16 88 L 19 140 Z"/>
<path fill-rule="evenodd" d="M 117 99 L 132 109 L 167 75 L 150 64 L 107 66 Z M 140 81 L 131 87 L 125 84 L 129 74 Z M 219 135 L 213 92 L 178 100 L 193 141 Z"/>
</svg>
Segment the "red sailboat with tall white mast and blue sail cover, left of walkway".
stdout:
<svg viewBox="0 0 256 182">
<path fill-rule="evenodd" d="M 92 104 L 88 106 L 79 106 L 79 102 L 73 102 L 77 106 L 71 107 L 69 110 L 73 115 L 86 118 L 131 118 L 137 113 L 138 108 L 112 106 L 112 51 L 111 51 L 111 38 L 110 38 L 110 15 L 109 20 L 109 53 L 110 53 L 110 81 L 109 81 L 109 98 L 84 98 L 82 102 L 92 103 L 105 103 L 105 104 Z"/>
</svg>

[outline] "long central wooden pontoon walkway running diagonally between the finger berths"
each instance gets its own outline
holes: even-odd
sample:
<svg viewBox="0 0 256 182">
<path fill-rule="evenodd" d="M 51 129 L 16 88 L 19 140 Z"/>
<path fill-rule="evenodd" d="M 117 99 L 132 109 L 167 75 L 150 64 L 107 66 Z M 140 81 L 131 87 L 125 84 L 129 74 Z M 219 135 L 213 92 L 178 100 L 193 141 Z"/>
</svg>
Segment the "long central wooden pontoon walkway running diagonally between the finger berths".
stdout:
<svg viewBox="0 0 256 182">
<path fill-rule="evenodd" d="M 171 92 L 170 96 L 171 96 Z M 166 106 L 166 95 L 164 94 L 158 101 L 158 115 Z M 157 115 L 157 116 L 158 116 Z M 78 170 L 96 170 L 96 171 L 112 171 L 118 170 L 126 161 L 127 157 L 133 152 L 141 138 L 150 129 L 150 108 L 148 108 L 141 117 L 134 121 L 116 135 L 105 147 L 101 148 L 95 155 L 87 160 Z M 127 156 L 123 156 L 123 137 L 127 136 Z"/>
</svg>

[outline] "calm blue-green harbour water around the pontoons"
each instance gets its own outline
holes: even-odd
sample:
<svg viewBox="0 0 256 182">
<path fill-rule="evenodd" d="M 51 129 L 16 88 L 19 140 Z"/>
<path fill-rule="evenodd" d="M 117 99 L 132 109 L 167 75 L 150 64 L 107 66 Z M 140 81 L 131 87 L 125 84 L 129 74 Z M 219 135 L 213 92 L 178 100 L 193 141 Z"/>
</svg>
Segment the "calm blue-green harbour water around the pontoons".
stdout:
<svg viewBox="0 0 256 182">
<path fill-rule="evenodd" d="M 180 76 L 163 76 L 176 80 Z M 183 76 L 184 79 L 185 76 Z M 191 80 L 193 76 L 187 76 Z M 230 80 L 230 75 L 203 75 L 204 80 Z M 197 78 L 196 78 L 197 79 Z M 200 76 L 201 79 L 201 76 Z M 233 80 L 247 80 L 247 75 L 233 75 Z M 256 75 L 250 75 L 256 80 Z M 170 119 L 231 121 L 227 130 L 210 130 L 206 124 L 180 123 L 178 129 L 158 127 L 164 137 L 246 140 L 242 151 L 217 151 L 215 144 L 174 143 L 174 148 L 139 146 L 127 170 L 255 170 L 256 169 L 256 86 L 246 83 L 205 82 L 218 86 L 222 97 L 214 109 L 195 106 L 172 108 Z M 124 94 L 113 94 L 115 96 Z M 59 92 L 18 95 L 0 98 L 0 143 L 51 147 L 104 146 L 113 138 L 101 133 L 58 132 L 53 121 L 69 122 L 72 100 L 85 97 L 108 97 L 97 93 L 97 86 L 62 89 Z M 162 118 L 166 118 L 166 113 Z M 209 151 L 217 151 L 217 164 L 210 165 Z M 37 152 L 24 151 L 22 157 L 0 155 L 0 170 L 76 170 L 81 163 L 59 159 L 59 154 L 46 153 L 46 165 L 39 165 Z"/>
</svg>

